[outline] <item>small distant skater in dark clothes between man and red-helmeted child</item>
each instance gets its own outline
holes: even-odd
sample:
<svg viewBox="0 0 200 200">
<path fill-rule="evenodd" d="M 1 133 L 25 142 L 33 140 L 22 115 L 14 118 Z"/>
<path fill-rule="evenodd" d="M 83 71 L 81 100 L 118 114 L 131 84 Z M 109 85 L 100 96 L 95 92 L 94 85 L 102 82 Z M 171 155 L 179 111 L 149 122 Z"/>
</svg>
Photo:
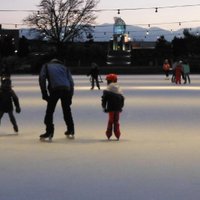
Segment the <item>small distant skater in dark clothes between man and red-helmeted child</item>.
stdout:
<svg viewBox="0 0 200 200">
<path fill-rule="evenodd" d="M 91 76 L 91 90 L 94 89 L 94 85 L 96 83 L 97 88 L 100 90 L 100 85 L 99 85 L 99 68 L 96 63 L 91 64 L 92 68 L 90 72 L 87 74 L 87 76 Z"/>
</svg>

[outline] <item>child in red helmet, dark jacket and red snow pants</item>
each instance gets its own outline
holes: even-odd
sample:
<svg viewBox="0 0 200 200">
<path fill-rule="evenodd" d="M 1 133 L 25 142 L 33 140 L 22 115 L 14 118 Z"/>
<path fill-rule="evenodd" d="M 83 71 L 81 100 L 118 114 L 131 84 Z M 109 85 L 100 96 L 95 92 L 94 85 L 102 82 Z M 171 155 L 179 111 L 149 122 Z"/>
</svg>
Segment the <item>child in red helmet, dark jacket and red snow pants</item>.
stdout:
<svg viewBox="0 0 200 200">
<path fill-rule="evenodd" d="M 119 125 L 119 116 L 124 106 L 124 96 L 117 84 L 117 75 L 108 74 L 106 76 L 107 89 L 103 91 L 102 96 L 102 108 L 108 113 L 108 125 L 106 130 L 106 136 L 108 139 L 112 136 L 114 128 L 114 134 L 119 140 L 121 132 Z"/>
</svg>

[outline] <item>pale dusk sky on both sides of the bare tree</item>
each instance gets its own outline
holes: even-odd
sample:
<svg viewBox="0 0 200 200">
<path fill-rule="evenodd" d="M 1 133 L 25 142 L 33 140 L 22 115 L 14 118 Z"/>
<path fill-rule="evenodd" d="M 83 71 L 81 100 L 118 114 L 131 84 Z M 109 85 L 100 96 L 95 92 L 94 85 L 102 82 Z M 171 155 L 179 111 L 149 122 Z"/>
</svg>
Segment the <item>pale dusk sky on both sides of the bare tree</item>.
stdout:
<svg viewBox="0 0 200 200">
<path fill-rule="evenodd" d="M 5 12 L 2 10 L 37 10 L 39 2 L 40 0 L 0 0 L 0 23 L 2 27 L 6 28 L 6 24 L 8 24 L 16 28 L 15 24 L 22 24 L 22 20 L 29 14 L 29 12 Z M 156 7 L 196 4 L 200 4 L 200 0 L 100 0 L 96 9 L 102 11 L 97 12 L 96 25 L 114 23 L 114 17 L 121 17 L 127 25 L 142 27 L 156 26 L 168 30 L 198 27 L 200 26 L 200 6 L 163 8 L 158 9 L 157 13 L 155 12 Z M 120 10 L 120 14 L 117 13 L 118 9 L 135 8 L 148 9 Z M 106 9 L 113 11 L 106 11 Z M 17 26 L 17 28 L 19 27 L 20 25 Z"/>
</svg>

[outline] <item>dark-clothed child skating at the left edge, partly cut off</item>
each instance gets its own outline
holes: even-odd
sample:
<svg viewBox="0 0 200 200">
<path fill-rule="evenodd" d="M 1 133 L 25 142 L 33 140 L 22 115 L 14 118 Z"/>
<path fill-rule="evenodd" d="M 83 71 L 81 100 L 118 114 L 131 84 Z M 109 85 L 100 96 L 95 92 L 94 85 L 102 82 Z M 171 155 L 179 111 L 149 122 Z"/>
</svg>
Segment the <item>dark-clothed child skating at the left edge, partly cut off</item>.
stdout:
<svg viewBox="0 0 200 200">
<path fill-rule="evenodd" d="M 12 89 L 12 84 L 10 78 L 3 78 L 1 80 L 0 87 L 0 122 L 4 115 L 4 113 L 8 113 L 10 121 L 13 125 L 13 129 L 15 132 L 18 132 L 18 125 L 13 114 L 13 102 L 16 107 L 16 112 L 20 113 L 21 108 L 19 104 L 19 99 Z"/>
</svg>

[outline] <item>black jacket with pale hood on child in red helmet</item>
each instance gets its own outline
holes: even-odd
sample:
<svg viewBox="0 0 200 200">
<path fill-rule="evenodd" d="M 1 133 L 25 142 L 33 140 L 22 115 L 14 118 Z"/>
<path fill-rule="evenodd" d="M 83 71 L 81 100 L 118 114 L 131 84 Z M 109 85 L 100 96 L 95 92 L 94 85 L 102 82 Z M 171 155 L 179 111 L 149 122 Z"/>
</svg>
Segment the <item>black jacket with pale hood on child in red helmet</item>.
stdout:
<svg viewBox="0 0 200 200">
<path fill-rule="evenodd" d="M 121 112 L 124 106 L 124 96 L 117 83 L 110 83 L 103 91 L 102 107 L 105 112 Z"/>
</svg>

